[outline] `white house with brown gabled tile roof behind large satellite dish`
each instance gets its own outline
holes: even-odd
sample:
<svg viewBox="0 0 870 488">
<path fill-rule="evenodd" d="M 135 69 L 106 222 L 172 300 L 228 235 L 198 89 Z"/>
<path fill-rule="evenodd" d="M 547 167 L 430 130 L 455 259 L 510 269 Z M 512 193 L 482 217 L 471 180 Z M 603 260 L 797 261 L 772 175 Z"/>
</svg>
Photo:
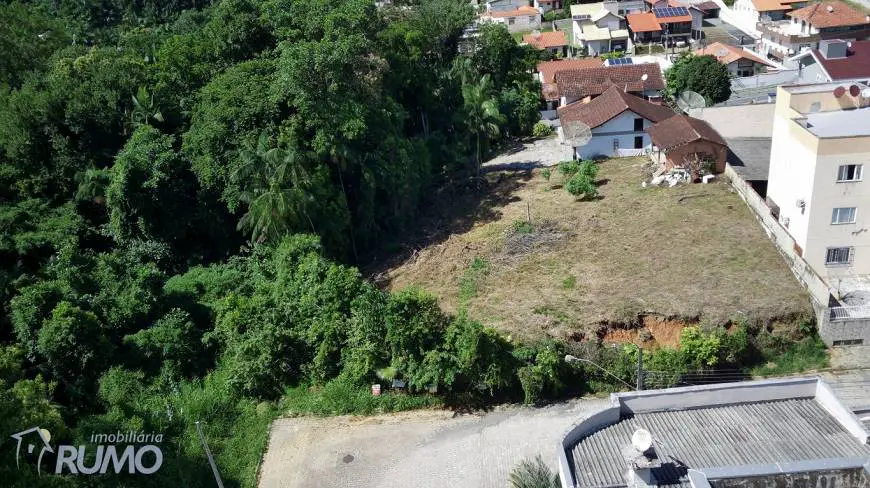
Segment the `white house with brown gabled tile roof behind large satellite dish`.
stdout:
<svg viewBox="0 0 870 488">
<path fill-rule="evenodd" d="M 675 115 L 670 108 L 615 85 L 587 103 L 578 101 L 559 107 L 558 113 L 559 136 L 566 143 L 576 142 L 572 138 L 578 127 L 591 129 L 588 143 L 574 147 L 578 159 L 643 154 L 651 145 L 645 129 Z"/>
</svg>

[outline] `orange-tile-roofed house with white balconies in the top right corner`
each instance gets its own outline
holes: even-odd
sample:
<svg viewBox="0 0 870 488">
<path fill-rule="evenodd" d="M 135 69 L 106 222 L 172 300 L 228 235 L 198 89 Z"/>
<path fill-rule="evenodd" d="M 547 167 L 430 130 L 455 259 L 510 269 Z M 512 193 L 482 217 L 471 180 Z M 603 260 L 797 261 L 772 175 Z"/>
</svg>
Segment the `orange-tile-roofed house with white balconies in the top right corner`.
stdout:
<svg viewBox="0 0 870 488">
<path fill-rule="evenodd" d="M 794 5 L 794 4 L 792 4 Z M 787 19 L 758 25 L 762 55 L 784 60 L 830 39 L 870 39 L 870 16 L 845 2 L 828 0 L 786 13 Z"/>
</svg>

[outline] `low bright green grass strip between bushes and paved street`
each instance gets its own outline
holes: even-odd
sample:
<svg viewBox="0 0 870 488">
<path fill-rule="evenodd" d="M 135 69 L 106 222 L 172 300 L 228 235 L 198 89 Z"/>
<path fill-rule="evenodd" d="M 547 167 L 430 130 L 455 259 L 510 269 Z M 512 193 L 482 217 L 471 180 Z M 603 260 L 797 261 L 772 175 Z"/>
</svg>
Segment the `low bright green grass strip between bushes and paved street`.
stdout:
<svg viewBox="0 0 870 488">
<path fill-rule="evenodd" d="M 440 398 L 385 391 L 372 395 L 371 388 L 333 380 L 318 387 L 290 388 L 284 395 L 286 415 L 375 415 L 381 413 L 441 407 Z"/>
</svg>

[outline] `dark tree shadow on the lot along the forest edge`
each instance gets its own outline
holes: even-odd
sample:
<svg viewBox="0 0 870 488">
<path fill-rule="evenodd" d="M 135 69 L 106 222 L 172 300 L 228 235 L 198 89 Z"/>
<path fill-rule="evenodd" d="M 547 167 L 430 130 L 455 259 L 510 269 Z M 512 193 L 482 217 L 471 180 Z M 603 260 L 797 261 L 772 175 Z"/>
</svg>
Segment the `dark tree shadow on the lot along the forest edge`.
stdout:
<svg viewBox="0 0 870 488">
<path fill-rule="evenodd" d="M 453 234 L 468 232 L 475 225 L 499 220 L 501 209 L 520 200 L 517 191 L 532 177 L 531 169 L 487 173 L 436 189 L 421 204 L 414 230 L 393 238 L 362 267 L 363 273 L 378 286 L 388 286 L 385 272 L 421 249 L 440 244 Z"/>
</svg>

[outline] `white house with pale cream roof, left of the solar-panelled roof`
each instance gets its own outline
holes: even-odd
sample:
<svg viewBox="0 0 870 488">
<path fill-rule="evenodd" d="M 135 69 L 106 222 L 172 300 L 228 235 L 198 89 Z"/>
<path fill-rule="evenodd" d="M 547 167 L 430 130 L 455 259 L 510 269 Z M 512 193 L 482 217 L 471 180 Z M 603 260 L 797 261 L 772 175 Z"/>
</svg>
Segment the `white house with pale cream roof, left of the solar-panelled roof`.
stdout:
<svg viewBox="0 0 870 488">
<path fill-rule="evenodd" d="M 618 9 L 614 1 L 571 5 L 574 44 L 589 56 L 628 50 L 628 29 Z"/>
</svg>

